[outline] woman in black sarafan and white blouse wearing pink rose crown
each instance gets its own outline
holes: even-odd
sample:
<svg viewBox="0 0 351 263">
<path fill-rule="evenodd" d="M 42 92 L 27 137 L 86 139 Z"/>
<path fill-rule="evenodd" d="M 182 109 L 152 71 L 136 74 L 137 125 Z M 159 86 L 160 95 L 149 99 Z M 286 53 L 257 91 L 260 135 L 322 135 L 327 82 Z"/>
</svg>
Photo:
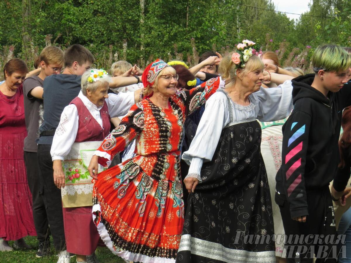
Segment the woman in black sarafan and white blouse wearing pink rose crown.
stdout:
<svg viewBox="0 0 351 263">
<path fill-rule="evenodd" d="M 276 262 L 272 202 L 260 153 L 261 121 L 292 109 L 291 81 L 263 72 L 260 47 L 249 40 L 222 59 L 229 82 L 207 102 L 197 133 L 182 159 L 190 192 L 177 262 Z M 292 77 L 285 76 L 285 80 Z M 279 79 L 279 80 L 278 80 Z"/>
</svg>

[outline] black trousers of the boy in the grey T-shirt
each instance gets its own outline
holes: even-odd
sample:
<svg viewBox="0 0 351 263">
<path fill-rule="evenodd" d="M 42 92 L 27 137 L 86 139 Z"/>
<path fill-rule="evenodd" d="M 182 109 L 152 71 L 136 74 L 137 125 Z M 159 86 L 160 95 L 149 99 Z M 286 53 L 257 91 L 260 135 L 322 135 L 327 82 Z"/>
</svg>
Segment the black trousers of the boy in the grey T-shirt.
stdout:
<svg viewBox="0 0 351 263">
<path fill-rule="evenodd" d="M 46 209 L 43 198 L 41 196 L 42 189 L 40 187 L 39 169 L 37 153 L 24 151 L 24 161 L 27 170 L 28 186 L 32 193 L 33 200 L 33 219 L 35 231 L 37 231 L 37 239 L 39 243 L 45 243 L 49 246 L 50 230 L 47 221 Z"/>
</svg>

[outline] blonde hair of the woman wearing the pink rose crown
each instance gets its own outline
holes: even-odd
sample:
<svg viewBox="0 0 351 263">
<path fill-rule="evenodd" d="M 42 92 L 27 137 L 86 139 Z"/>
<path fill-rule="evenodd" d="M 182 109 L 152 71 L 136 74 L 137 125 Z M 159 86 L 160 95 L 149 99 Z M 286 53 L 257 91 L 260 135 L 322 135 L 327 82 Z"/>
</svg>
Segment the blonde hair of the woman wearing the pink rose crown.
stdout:
<svg viewBox="0 0 351 263">
<path fill-rule="evenodd" d="M 231 82 L 235 82 L 237 79 L 237 65 L 235 65 L 232 61 L 232 54 L 226 55 L 221 62 L 219 63 L 218 72 L 223 79 L 230 79 Z M 258 57 L 253 55 L 250 59 L 245 63 L 245 68 L 240 68 L 242 74 L 247 74 L 251 71 L 260 69 L 263 70 L 264 65 L 262 60 Z"/>
</svg>

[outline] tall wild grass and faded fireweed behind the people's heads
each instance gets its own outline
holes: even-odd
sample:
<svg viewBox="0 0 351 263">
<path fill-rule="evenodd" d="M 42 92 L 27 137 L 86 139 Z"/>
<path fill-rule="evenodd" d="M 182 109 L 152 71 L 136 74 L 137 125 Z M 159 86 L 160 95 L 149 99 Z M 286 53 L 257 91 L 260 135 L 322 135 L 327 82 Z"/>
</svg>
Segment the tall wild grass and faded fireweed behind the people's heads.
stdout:
<svg viewBox="0 0 351 263">
<path fill-rule="evenodd" d="M 52 39 L 52 35 L 46 35 L 45 37 L 45 46 L 59 46 L 56 43 L 56 40 L 59 36 L 55 39 Z M 269 35 L 266 36 L 266 43 L 261 45 L 263 47 L 263 51 L 265 50 L 272 50 L 273 45 L 271 43 L 272 39 L 270 39 Z M 170 61 L 172 59 L 177 60 L 184 60 L 190 67 L 194 66 L 198 63 L 199 54 L 197 51 L 196 43 L 194 39 L 190 40 L 191 43 L 191 52 L 179 52 L 177 44 L 173 45 L 173 50 L 170 50 L 167 54 L 160 58 L 165 61 Z M 59 46 L 63 50 L 65 50 L 65 46 Z M 0 68 L 2 69 L 5 63 L 12 59 L 12 58 L 20 58 L 26 61 L 29 70 L 34 69 L 34 61 L 35 58 L 40 54 L 40 51 L 44 48 L 35 46 L 32 41 L 29 41 L 29 46 L 26 49 L 22 49 L 21 53 L 14 54 L 14 46 L 3 46 L 0 48 Z M 96 68 L 104 68 L 107 71 L 111 68 L 113 62 L 118 60 L 127 60 L 128 61 L 128 47 L 127 47 L 127 40 L 123 40 L 122 50 L 118 51 L 117 47 L 114 45 L 106 45 L 105 47 L 96 47 L 94 44 L 91 44 L 87 47 L 90 50 L 98 50 L 97 52 L 93 52 L 95 58 L 95 65 Z M 216 44 L 213 44 L 210 48 L 213 51 L 217 51 L 220 54 L 226 54 L 234 49 L 234 47 L 226 46 L 226 47 L 217 47 Z M 135 53 L 135 50 L 133 50 Z M 305 73 L 311 73 L 312 66 L 310 63 L 310 57 L 312 55 L 312 49 L 310 46 L 307 46 L 303 49 L 297 47 L 291 47 L 289 42 L 283 41 L 280 43 L 279 48 L 275 50 L 278 55 L 280 64 L 283 67 L 299 67 L 304 70 Z M 153 55 L 149 56 L 149 58 L 141 64 L 141 61 L 129 61 L 130 63 L 137 64 L 140 67 L 145 67 L 148 63 L 152 62 L 156 59 Z M 0 80 L 4 79 L 3 72 L 1 70 Z"/>
</svg>

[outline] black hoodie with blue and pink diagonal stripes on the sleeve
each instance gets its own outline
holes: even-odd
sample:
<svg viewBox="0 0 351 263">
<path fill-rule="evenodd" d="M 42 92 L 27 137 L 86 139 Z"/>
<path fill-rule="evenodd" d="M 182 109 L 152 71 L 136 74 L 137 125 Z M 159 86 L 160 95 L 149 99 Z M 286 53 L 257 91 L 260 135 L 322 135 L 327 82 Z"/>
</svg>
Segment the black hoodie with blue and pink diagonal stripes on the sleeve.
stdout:
<svg viewBox="0 0 351 263">
<path fill-rule="evenodd" d="M 276 190 L 289 202 L 291 218 L 309 214 L 309 189 L 326 187 L 333 180 L 339 163 L 342 110 L 351 105 L 350 82 L 325 97 L 311 87 L 313 80 L 314 74 L 292 80 L 294 108 L 282 128 L 282 166 Z"/>
</svg>

